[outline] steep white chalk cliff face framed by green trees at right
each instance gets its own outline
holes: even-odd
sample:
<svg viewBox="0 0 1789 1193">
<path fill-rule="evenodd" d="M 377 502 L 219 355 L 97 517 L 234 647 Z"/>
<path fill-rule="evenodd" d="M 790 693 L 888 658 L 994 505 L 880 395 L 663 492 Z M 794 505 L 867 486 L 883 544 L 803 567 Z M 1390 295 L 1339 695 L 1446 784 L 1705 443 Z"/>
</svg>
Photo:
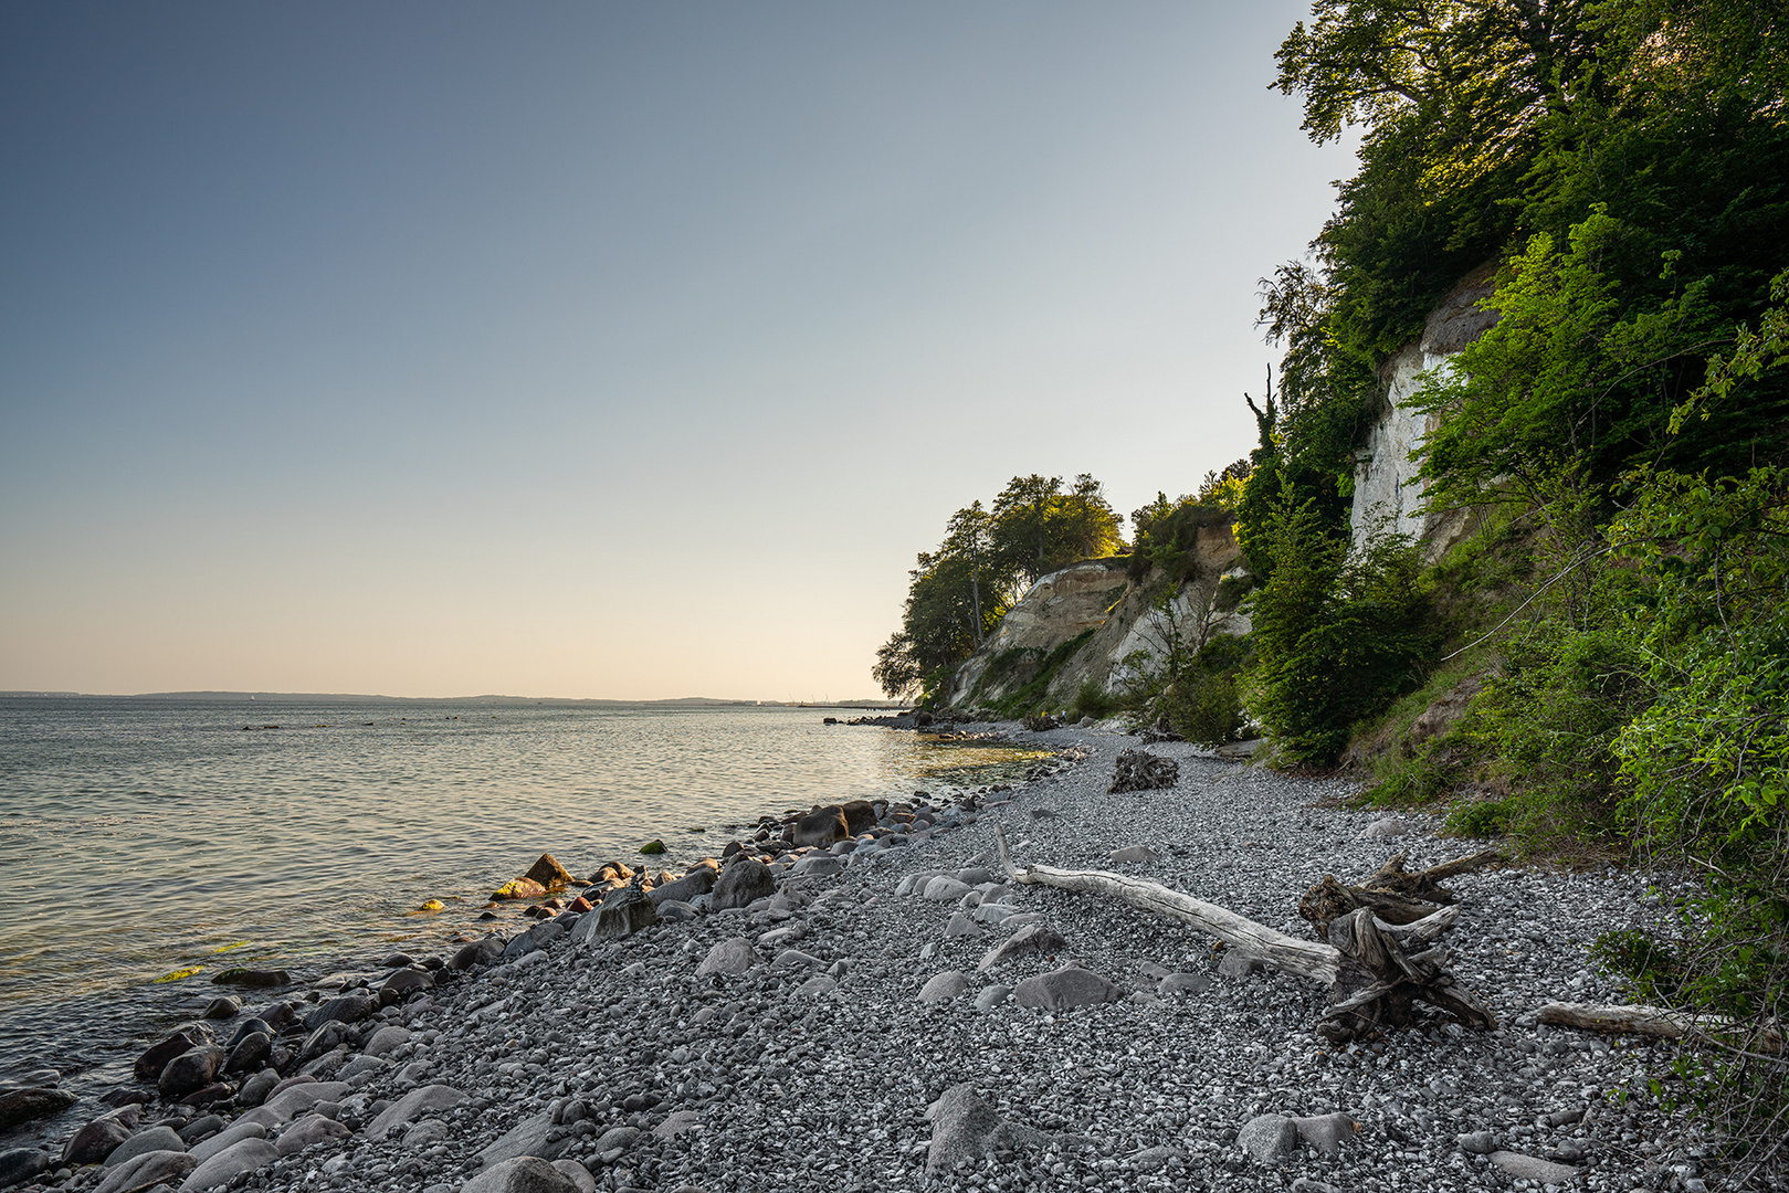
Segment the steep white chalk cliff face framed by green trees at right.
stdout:
<svg viewBox="0 0 1789 1193">
<path fill-rule="evenodd" d="M 1465 520 L 1456 513 L 1428 510 L 1417 483 L 1417 461 L 1410 458 L 1435 429 L 1433 419 L 1406 410 L 1424 379 L 1449 361 L 1485 329 L 1497 322 L 1496 311 L 1480 306 L 1492 293 L 1492 267 L 1478 268 L 1449 293 L 1422 329 L 1422 338 L 1406 345 L 1379 368 L 1385 406 L 1367 433 L 1367 445 L 1354 456 L 1354 510 L 1351 526 L 1354 546 L 1381 531 L 1417 537 L 1429 560 L 1458 540 Z"/>
</svg>

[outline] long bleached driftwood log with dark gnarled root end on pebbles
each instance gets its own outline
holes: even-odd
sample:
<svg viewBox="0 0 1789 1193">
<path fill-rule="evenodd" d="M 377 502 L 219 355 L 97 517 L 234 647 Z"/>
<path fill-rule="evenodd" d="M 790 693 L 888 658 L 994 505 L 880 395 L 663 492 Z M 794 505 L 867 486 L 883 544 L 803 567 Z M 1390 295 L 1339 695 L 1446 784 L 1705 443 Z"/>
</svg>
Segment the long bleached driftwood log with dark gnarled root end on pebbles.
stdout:
<svg viewBox="0 0 1789 1193">
<path fill-rule="evenodd" d="M 1000 866 L 1013 882 L 1116 898 L 1208 932 L 1259 957 L 1272 969 L 1327 986 L 1329 1007 L 1317 1025 L 1326 1039 L 1340 1043 L 1376 1028 L 1415 1025 L 1417 1002 L 1440 1007 L 1467 1027 L 1497 1027 L 1490 1009 L 1447 973 L 1447 948 L 1437 944 L 1458 921 L 1458 907 L 1440 907 L 1403 925 L 1358 909 L 1331 923 L 1329 943 L 1322 944 L 1290 937 L 1157 882 L 1106 869 L 1020 867 L 1013 864 L 1000 825 L 995 825 L 995 839 L 1000 844 Z"/>
</svg>

